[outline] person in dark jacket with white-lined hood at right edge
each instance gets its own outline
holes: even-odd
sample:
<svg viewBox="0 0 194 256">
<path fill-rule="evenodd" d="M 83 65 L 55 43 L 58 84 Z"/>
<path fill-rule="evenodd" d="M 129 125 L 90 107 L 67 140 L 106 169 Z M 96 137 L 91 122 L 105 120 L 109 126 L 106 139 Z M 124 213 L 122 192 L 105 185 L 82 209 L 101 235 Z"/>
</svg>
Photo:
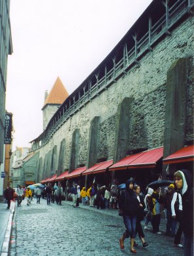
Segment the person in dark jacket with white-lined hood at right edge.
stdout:
<svg viewBox="0 0 194 256">
<path fill-rule="evenodd" d="M 193 256 L 193 179 L 191 173 L 181 169 L 174 173 L 174 183 L 182 195 L 182 226 L 184 231 L 184 256 Z"/>
</svg>

